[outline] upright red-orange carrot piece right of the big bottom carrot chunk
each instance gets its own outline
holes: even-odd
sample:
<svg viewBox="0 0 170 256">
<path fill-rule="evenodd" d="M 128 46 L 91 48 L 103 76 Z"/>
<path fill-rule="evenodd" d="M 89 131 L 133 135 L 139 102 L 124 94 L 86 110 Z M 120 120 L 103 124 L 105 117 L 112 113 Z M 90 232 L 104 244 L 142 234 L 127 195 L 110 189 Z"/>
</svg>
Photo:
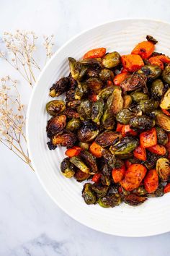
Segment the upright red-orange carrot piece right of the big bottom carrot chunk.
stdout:
<svg viewBox="0 0 170 256">
<path fill-rule="evenodd" d="M 149 170 L 143 180 L 144 187 L 148 193 L 153 193 L 158 189 L 158 174 L 155 169 Z"/>
</svg>

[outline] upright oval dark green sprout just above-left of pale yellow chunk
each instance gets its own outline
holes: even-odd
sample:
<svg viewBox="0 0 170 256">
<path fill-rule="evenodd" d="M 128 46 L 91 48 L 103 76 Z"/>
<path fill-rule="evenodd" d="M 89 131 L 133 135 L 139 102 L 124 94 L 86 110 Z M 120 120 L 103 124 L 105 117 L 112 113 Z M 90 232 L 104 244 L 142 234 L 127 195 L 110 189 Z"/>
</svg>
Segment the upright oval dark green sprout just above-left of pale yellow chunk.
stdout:
<svg viewBox="0 0 170 256">
<path fill-rule="evenodd" d="M 151 84 L 151 96 L 155 100 L 160 100 L 162 95 L 165 93 L 164 83 L 161 79 L 156 79 Z"/>
</svg>

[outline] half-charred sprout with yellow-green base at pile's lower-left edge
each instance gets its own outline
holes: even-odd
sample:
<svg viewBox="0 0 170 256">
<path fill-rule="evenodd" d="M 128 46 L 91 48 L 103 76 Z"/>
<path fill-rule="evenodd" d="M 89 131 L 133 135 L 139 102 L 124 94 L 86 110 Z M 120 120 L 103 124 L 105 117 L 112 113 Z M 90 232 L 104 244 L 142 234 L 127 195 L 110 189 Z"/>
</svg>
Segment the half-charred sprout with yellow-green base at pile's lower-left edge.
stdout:
<svg viewBox="0 0 170 256">
<path fill-rule="evenodd" d="M 66 178 L 71 178 L 75 174 L 75 166 L 69 158 L 64 158 L 61 162 L 61 172 Z"/>
</svg>

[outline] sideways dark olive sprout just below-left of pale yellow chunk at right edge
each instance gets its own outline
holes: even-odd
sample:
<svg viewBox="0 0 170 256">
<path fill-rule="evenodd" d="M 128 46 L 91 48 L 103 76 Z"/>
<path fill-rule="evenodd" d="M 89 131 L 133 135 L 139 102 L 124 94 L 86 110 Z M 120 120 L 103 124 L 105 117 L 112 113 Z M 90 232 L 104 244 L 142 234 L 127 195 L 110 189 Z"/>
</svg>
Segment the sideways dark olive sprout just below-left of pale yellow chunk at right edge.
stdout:
<svg viewBox="0 0 170 256">
<path fill-rule="evenodd" d="M 146 101 L 140 101 L 140 103 L 138 103 L 138 110 L 142 111 L 143 114 L 149 114 L 151 113 L 151 111 L 153 111 L 154 109 L 158 108 L 158 101 L 154 101 L 154 100 L 146 100 Z"/>
</svg>

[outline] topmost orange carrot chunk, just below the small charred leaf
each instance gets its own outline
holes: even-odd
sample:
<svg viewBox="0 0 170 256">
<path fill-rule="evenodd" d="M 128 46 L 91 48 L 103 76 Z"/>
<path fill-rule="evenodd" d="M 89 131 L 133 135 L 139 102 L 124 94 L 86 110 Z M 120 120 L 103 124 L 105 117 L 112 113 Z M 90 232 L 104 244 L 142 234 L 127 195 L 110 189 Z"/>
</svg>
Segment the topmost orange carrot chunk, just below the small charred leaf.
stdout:
<svg viewBox="0 0 170 256">
<path fill-rule="evenodd" d="M 138 43 L 137 46 L 133 49 L 131 54 L 139 54 L 142 59 L 148 59 L 148 57 L 153 54 L 154 51 L 154 44 L 149 41 L 143 41 L 141 43 Z"/>
</svg>

